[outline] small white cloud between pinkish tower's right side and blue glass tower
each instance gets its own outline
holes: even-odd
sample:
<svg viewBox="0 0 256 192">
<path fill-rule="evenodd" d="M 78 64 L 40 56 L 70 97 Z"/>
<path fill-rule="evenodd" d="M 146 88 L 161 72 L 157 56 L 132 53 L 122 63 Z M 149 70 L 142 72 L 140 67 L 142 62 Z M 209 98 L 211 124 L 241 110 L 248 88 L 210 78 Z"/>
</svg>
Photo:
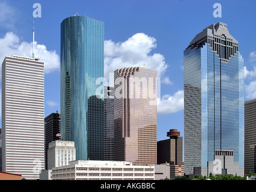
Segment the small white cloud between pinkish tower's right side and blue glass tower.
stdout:
<svg viewBox="0 0 256 192">
<path fill-rule="evenodd" d="M 157 113 L 167 114 L 175 113 L 184 109 L 184 91 L 180 90 L 175 92 L 174 95 L 163 95 L 157 98 Z"/>
</svg>

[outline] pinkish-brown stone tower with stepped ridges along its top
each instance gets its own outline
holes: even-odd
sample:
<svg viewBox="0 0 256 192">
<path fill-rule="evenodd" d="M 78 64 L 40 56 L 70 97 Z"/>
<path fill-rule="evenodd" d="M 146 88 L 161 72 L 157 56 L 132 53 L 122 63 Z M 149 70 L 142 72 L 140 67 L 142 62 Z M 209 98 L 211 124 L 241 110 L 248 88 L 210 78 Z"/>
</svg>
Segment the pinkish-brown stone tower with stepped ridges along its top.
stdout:
<svg viewBox="0 0 256 192">
<path fill-rule="evenodd" d="M 115 70 L 115 160 L 156 164 L 156 70 Z"/>
</svg>

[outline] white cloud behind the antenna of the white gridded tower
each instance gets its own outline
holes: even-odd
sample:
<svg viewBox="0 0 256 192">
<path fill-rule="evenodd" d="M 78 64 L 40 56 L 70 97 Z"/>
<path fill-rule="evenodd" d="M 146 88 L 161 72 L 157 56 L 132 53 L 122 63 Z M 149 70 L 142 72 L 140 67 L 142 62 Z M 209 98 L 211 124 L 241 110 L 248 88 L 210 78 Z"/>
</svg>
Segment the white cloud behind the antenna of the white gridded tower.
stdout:
<svg viewBox="0 0 256 192">
<path fill-rule="evenodd" d="M 4 61 L 5 56 L 20 55 L 32 57 L 32 42 L 21 41 L 13 32 L 7 32 L 4 38 L 0 38 L 0 61 Z M 59 70 L 59 55 L 55 50 L 47 50 L 43 44 L 35 42 L 35 58 L 44 62 L 44 72 L 50 73 Z"/>
</svg>

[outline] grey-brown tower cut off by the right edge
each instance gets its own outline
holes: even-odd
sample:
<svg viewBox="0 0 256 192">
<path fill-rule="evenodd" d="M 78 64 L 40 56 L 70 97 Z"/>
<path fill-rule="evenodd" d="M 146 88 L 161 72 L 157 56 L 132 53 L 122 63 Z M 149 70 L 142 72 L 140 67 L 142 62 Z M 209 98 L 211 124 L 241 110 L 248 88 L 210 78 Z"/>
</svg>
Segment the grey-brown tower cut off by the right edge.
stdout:
<svg viewBox="0 0 256 192">
<path fill-rule="evenodd" d="M 256 99 L 245 101 L 245 174 L 255 173 Z"/>
</svg>

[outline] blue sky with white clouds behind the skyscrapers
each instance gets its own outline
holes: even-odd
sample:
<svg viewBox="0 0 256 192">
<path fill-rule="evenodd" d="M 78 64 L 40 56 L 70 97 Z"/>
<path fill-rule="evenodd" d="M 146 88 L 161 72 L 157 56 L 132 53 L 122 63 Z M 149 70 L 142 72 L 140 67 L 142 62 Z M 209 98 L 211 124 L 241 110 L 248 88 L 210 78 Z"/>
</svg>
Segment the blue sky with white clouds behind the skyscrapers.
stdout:
<svg viewBox="0 0 256 192">
<path fill-rule="evenodd" d="M 221 7 L 213 7 L 215 3 Z M 255 0 L 0 0 L 0 61 L 6 55 L 32 56 L 32 14 L 39 8 L 34 4 L 41 5 L 41 17 L 35 17 L 35 57 L 45 63 L 44 116 L 61 111 L 60 26 L 75 14 L 105 23 L 107 79 L 123 67 L 145 64 L 157 70 L 157 140 L 168 139 L 166 132 L 172 128 L 184 134 L 183 51 L 213 23 L 227 23 L 239 41 L 245 101 L 256 98 Z M 219 17 L 213 14 L 217 8 Z"/>
</svg>

